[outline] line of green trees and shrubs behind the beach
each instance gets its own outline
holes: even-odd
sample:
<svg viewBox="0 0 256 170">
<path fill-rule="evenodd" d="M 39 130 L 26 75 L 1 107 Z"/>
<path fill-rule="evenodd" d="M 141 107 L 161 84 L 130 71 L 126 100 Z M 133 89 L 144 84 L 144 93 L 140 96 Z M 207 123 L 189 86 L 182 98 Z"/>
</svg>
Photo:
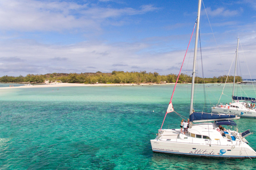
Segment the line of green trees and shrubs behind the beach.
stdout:
<svg viewBox="0 0 256 170">
<path fill-rule="evenodd" d="M 20 75 L 19 77 L 12 77 L 5 75 L 0 78 L 0 82 L 12 83 L 44 83 L 49 82 L 68 82 L 68 83 L 175 83 L 177 74 L 159 75 L 157 72 L 147 73 L 141 72 L 124 72 L 113 71 L 112 73 L 51 73 L 51 74 L 28 74 L 26 77 Z M 227 75 L 222 75 L 213 78 L 199 78 L 196 77 L 196 83 L 224 83 Z M 191 83 L 192 77 L 187 74 L 180 74 L 178 83 Z M 229 76 L 227 82 L 233 82 L 234 77 Z M 236 77 L 236 82 L 242 82 L 242 77 Z"/>
</svg>

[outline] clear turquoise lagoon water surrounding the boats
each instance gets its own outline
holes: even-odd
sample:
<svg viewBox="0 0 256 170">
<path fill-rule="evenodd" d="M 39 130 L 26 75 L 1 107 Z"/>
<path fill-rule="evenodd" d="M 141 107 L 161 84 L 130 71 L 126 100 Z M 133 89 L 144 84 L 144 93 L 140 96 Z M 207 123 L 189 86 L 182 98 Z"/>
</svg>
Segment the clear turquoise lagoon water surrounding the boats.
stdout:
<svg viewBox="0 0 256 170">
<path fill-rule="evenodd" d="M 153 153 L 150 139 L 161 127 L 173 85 L 0 89 L 0 169 L 255 169 L 256 159 L 227 160 Z M 196 111 L 203 108 L 197 86 Z M 206 86 L 216 104 L 223 84 Z M 221 102 L 230 101 L 231 85 Z M 254 95 L 251 85 L 247 94 Z M 255 95 L 254 95 L 255 96 Z M 253 97 L 253 96 L 252 96 Z M 188 117 L 190 85 L 173 98 Z M 163 128 L 178 128 L 169 114 Z M 239 129 L 256 132 L 256 118 Z M 246 138 L 256 150 L 255 135 Z"/>
</svg>

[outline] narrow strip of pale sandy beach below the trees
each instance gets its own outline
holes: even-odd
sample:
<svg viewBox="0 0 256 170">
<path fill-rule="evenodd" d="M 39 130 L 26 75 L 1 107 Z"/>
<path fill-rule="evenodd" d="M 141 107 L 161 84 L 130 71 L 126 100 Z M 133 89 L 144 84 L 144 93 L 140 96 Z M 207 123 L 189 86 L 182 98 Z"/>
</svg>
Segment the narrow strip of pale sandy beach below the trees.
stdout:
<svg viewBox="0 0 256 170">
<path fill-rule="evenodd" d="M 15 83 L 13 83 L 15 84 Z M 175 83 L 126 83 L 126 84 L 82 84 L 82 83 L 49 83 L 49 84 L 24 84 L 23 86 L 14 86 L 14 87 L 0 87 L 0 89 L 19 89 L 19 88 L 49 88 L 49 87 L 90 87 L 90 86 L 149 86 L 149 85 L 164 85 L 164 84 L 175 84 Z"/>
</svg>

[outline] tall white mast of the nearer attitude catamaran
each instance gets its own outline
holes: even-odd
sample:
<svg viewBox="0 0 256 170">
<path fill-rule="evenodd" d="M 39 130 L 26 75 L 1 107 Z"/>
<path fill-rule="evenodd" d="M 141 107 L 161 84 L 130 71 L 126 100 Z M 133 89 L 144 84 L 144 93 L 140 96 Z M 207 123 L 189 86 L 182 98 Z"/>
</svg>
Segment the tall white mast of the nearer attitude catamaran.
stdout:
<svg viewBox="0 0 256 170">
<path fill-rule="evenodd" d="M 195 73 L 196 73 L 196 54 L 197 54 L 197 44 L 198 44 L 200 13 L 201 13 L 201 0 L 198 0 L 198 11 L 197 11 L 197 19 L 196 19 L 196 40 L 195 40 L 195 50 L 194 50 L 194 62 L 193 62 L 193 72 L 192 72 L 192 84 L 191 84 L 191 98 L 190 98 L 190 112 L 189 112 L 189 115 L 191 115 L 193 113 L 193 99 L 194 99 Z"/>
</svg>

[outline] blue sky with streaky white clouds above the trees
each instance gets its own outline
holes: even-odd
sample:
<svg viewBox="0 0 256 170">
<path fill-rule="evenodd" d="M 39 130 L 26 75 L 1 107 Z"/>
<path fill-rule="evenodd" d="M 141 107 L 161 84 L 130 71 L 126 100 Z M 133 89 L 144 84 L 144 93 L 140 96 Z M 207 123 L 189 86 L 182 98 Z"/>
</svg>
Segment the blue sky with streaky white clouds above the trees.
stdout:
<svg viewBox="0 0 256 170">
<path fill-rule="evenodd" d="M 196 0 L 2 0 L 0 76 L 114 70 L 178 74 L 196 15 Z M 205 77 L 228 74 L 239 37 L 238 75 L 256 78 L 255 20 L 255 1 L 203 1 Z M 194 39 L 183 73 L 191 70 L 193 48 Z"/>
</svg>

